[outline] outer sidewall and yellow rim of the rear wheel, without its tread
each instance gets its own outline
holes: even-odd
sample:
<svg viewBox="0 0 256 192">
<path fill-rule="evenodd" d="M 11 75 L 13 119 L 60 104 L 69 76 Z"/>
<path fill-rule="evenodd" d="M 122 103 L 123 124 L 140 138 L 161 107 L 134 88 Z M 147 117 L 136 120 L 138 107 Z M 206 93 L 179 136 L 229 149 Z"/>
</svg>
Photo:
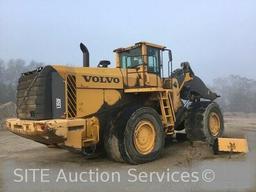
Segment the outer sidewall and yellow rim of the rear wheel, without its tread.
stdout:
<svg viewBox="0 0 256 192">
<path fill-rule="evenodd" d="M 165 133 L 159 114 L 152 108 L 137 109 L 129 118 L 121 143 L 121 153 L 131 164 L 157 159 L 165 144 Z"/>
</svg>

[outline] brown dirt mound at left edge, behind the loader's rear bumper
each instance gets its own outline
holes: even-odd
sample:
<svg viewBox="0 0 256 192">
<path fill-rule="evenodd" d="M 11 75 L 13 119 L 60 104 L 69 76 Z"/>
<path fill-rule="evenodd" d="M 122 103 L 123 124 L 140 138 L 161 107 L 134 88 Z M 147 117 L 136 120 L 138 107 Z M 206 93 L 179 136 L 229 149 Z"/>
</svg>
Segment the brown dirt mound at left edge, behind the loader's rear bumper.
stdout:
<svg viewBox="0 0 256 192">
<path fill-rule="evenodd" d="M 0 129 L 4 128 L 4 120 L 16 116 L 16 104 L 8 102 L 0 105 Z"/>
</svg>

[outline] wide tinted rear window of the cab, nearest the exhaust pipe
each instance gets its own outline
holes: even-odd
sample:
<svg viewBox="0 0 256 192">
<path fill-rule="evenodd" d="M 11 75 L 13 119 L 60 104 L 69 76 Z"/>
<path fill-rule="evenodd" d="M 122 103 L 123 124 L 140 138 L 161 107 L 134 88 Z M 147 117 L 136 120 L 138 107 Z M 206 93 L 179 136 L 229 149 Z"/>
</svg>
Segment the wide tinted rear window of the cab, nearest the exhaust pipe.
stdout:
<svg viewBox="0 0 256 192">
<path fill-rule="evenodd" d="M 141 47 L 120 53 L 120 63 L 122 68 L 136 68 L 138 65 L 142 65 Z"/>
</svg>

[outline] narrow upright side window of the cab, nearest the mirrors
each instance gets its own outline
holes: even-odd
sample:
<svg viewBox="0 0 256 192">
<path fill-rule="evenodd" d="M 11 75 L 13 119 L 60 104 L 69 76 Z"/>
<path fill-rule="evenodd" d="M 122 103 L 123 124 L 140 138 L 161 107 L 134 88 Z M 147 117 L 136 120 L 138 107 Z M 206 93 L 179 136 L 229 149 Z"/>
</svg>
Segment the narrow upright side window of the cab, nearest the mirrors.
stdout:
<svg viewBox="0 0 256 192">
<path fill-rule="evenodd" d="M 148 72 L 160 73 L 160 50 L 148 47 Z"/>
</svg>

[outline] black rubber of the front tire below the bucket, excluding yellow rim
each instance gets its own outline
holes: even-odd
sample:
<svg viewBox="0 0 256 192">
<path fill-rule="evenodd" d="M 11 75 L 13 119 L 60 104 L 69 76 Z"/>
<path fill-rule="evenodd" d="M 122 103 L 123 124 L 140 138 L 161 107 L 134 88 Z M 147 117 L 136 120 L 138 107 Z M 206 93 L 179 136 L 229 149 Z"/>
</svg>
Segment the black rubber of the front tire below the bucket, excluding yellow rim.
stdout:
<svg viewBox="0 0 256 192">
<path fill-rule="evenodd" d="M 212 132 L 210 118 L 215 116 L 219 119 L 219 129 Z M 217 103 L 202 101 L 191 104 L 185 120 L 187 138 L 191 141 L 206 141 L 213 145 L 216 138 L 224 132 L 224 120 L 220 107 Z"/>
</svg>

